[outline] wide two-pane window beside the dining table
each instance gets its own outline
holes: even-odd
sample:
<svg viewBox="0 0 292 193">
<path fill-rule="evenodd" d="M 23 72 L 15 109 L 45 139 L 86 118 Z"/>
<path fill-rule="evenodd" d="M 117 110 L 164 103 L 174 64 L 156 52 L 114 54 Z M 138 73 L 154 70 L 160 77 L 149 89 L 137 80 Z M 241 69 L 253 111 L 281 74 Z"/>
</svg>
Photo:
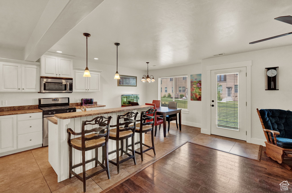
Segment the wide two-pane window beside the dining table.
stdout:
<svg viewBox="0 0 292 193">
<path fill-rule="evenodd" d="M 167 107 L 169 101 L 175 101 L 178 102 L 178 108 L 187 109 L 187 76 L 173 76 L 159 79 L 161 82 L 161 92 L 158 97 L 161 100 L 161 107 Z"/>
</svg>

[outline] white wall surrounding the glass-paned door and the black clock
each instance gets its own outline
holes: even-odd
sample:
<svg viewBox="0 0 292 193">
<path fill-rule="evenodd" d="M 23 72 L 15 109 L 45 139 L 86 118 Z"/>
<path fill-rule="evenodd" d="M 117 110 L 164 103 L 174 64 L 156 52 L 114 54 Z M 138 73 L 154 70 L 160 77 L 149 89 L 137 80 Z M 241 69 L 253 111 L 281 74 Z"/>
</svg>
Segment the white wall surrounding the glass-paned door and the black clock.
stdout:
<svg viewBox="0 0 292 193">
<path fill-rule="evenodd" d="M 206 66 L 252 60 L 251 66 L 251 142 L 264 145 L 263 133 L 256 108 L 292 109 L 292 46 L 271 48 L 260 51 L 240 53 L 202 60 L 202 82 L 206 82 Z M 265 91 L 265 68 L 279 66 L 279 91 Z M 205 91 L 206 89 L 206 91 Z M 202 87 L 202 114 L 210 108 L 206 100 L 209 88 Z M 202 117 L 201 132 L 208 130 L 207 116 Z"/>
</svg>

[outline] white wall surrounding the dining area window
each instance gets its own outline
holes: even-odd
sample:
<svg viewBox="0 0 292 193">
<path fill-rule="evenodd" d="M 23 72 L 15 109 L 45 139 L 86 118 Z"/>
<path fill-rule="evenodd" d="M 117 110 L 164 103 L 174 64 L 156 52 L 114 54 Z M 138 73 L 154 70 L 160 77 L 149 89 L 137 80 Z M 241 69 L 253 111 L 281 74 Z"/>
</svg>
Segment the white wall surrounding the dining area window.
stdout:
<svg viewBox="0 0 292 193">
<path fill-rule="evenodd" d="M 145 82 L 143 84 L 147 85 L 147 102 L 152 102 L 152 100 L 158 100 L 159 77 L 187 74 L 188 75 L 187 88 L 190 88 L 190 75 L 201 74 L 201 64 L 150 70 L 149 74 L 153 75 L 156 81 L 154 83 Z M 140 81 L 142 76 L 138 78 L 139 78 L 138 80 Z M 188 90 L 187 95 L 190 96 L 190 89 L 187 90 Z M 182 113 L 182 124 L 201 127 L 201 101 L 191 101 L 189 97 L 187 101 L 187 106 L 189 113 L 188 114 Z"/>
</svg>

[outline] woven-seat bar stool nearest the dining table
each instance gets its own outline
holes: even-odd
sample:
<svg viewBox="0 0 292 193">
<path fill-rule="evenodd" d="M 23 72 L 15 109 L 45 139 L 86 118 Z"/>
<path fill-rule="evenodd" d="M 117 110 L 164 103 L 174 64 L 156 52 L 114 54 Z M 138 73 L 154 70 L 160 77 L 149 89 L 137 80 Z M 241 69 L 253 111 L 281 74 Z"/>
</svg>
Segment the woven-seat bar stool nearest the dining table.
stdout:
<svg viewBox="0 0 292 193">
<path fill-rule="evenodd" d="M 135 145 L 140 144 L 140 152 L 135 151 L 135 153 L 141 155 L 141 161 L 143 161 L 143 153 L 145 153 L 151 149 L 153 149 L 154 155 L 156 155 L 155 148 L 154 148 L 154 133 L 153 133 L 154 122 L 155 122 L 155 112 L 156 111 L 157 111 L 157 109 L 153 109 L 153 108 L 150 108 L 147 111 L 142 111 L 141 116 L 140 116 L 140 120 L 137 120 L 137 122 L 139 122 L 139 123 L 136 124 L 135 133 L 139 133 L 139 141 L 136 142 Z M 146 122 L 146 120 L 148 120 L 149 122 Z M 142 143 L 142 133 L 146 133 L 149 131 L 151 131 L 152 146 L 149 146 L 149 145 Z M 148 147 L 148 148 L 143 150 L 143 145 Z M 126 151 L 128 149 L 126 149 Z M 132 150 L 132 149 L 129 149 L 129 150 Z"/>
</svg>

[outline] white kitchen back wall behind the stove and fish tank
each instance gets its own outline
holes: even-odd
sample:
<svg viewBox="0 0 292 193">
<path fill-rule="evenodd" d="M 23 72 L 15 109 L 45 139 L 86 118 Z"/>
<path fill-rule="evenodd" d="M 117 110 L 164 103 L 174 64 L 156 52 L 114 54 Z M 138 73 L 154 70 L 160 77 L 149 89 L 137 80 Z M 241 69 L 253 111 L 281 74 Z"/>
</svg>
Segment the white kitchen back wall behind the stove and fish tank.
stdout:
<svg viewBox="0 0 292 193">
<path fill-rule="evenodd" d="M 86 67 L 86 61 L 73 60 L 74 67 Z M 121 107 L 122 94 L 139 94 L 140 104 L 146 102 L 146 86 L 141 81 L 137 81 L 137 87 L 117 86 L 117 80 L 114 79 L 116 67 L 111 65 L 103 65 L 88 62 L 89 69 L 102 70 L 100 73 L 100 92 L 73 92 L 73 93 L 12 93 L 0 92 L 0 107 L 1 100 L 7 100 L 6 106 L 21 106 L 21 105 L 38 105 L 39 98 L 53 97 L 69 97 L 70 102 L 81 102 L 81 98 L 93 98 L 98 104 L 106 105 L 105 108 Z M 144 70 L 119 67 L 119 74 L 142 77 L 145 74 Z M 138 78 L 139 79 L 139 78 Z M 78 100 L 75 101 L 74 99 Z M 6 107 L 5 106 L 5 107 Z"/>
</svg>

